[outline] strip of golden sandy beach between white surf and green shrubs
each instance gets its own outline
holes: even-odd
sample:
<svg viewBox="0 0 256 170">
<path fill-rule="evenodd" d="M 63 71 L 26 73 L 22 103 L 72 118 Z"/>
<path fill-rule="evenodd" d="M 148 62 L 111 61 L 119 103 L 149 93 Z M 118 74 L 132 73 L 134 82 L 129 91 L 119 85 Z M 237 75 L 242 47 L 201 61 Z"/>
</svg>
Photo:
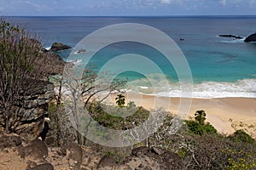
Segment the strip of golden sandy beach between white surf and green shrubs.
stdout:
<svg viewBox="0 0 256 170">
<path fill-rule="evenodd" d="M 111 97 L 114 101 L 115 96 Z M 179 105 L 180 98 L 157 97 L 146 94 L 125 94 L 126 103 L 134 101 L 137 106 L 151 110 L 162 107 L 172 114 L 194 119 L 195 111 L 204 110 L 207 122 L 218 130 L 218 133 L 229 135 L 238 129 L 243 129 L 256 139 L 256 99 L 255 98 L 220 98 L 220 99 L 183 99 L 183 105 L 188 106 L 188 113 L 183 112 L 183 105 Z M 188 103 L 186 103 L 188 102 Z M 178 112 L 178 107 L 180 107 Z"/>
</svg>

